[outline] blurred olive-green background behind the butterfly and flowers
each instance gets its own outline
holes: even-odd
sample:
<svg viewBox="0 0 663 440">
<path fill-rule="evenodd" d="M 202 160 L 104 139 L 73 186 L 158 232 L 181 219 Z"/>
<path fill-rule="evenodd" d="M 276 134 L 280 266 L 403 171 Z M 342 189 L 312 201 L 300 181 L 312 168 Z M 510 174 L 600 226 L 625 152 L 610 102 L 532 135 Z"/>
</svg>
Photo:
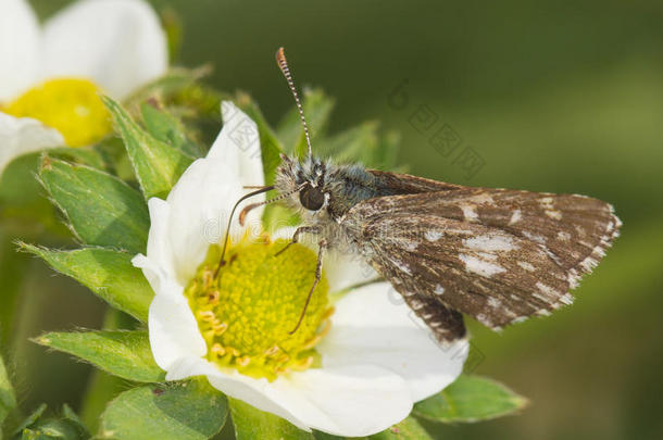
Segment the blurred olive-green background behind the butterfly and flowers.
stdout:
<svg viewBox="0 0 663 440">
<path fill-rule="evenodd" d="M 46 17 L 66 1 L 35 0 Z M 330 131 L 376 120 L 402 135 L 399 163 L 473 186 L 579 192 L 613 203 L 622 237 L 551 317 L 492 334 L 472 326 L 475 373 L 527 397 L 521 415 L 433 426 L 439 438 L 663 438 L 663 3 L 660 1 L 154 0 L 184 29 L 177 63 L 242 89 L 272 123 L 291 108 L 275 63 L 336 98 Z M 406 101 L 389 104 L 403 85 Z M 401 95 L 401 98 L 404 97 Z M 392 101 L 391 101 L 392 102 Z M 401 102 L 401 103 L 402 103 Z M 422 105 L 462 139 L 450 158 L 411 116 Z M 484 166 L 453 163 L 466 147 Z M 11 335 L 25 407 L 79 407 L 90 368 L 26 341 L 99 327 L 103 304 L 25 255 L 4 230 L 2 289 L 20 289 Z M 22 277 L 22 271 L 27 272 Z M 9 297 L 9 296 L 8 296 Z M 9 304 L 2 304 L 4 312 Z"/>
</svg>

